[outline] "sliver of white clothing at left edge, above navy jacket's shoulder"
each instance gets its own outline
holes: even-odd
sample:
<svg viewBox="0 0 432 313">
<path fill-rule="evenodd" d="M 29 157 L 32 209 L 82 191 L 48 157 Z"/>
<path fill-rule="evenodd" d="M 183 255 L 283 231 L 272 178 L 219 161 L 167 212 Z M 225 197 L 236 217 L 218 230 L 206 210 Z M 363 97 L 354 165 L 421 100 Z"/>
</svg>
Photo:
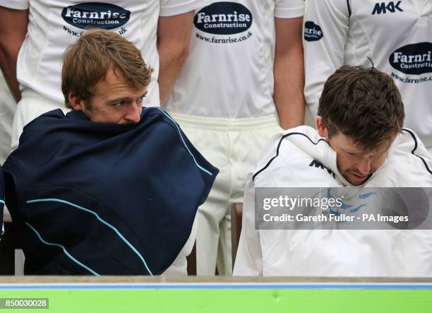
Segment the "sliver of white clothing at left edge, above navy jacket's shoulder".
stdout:
<svg viewBox="0 0 432 313">
<path fill-rule="evenodd" d="M 11 132 L 16 102 L 0 71 L 0 165 L 11 154 Z"/>
</svg>

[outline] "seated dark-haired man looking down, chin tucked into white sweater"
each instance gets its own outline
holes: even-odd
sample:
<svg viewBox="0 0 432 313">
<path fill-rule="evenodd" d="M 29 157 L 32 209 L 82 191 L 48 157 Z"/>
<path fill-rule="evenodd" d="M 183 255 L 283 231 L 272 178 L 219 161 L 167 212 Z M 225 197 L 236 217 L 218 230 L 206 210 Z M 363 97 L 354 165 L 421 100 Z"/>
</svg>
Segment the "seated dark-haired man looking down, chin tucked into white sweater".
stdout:
<svg viewBox="0 0 432 313">
<path fill-rule="evenodd" d="M 249 176 L 234 275 L 432 276 L 431 230 L 255 227 L 259 187 L 432 187 L 431 157 L 403 121 L 387 74 L 342 66 L 330 76 L 317 131 L 299 126 L 274 136 Z"/>
</svg>

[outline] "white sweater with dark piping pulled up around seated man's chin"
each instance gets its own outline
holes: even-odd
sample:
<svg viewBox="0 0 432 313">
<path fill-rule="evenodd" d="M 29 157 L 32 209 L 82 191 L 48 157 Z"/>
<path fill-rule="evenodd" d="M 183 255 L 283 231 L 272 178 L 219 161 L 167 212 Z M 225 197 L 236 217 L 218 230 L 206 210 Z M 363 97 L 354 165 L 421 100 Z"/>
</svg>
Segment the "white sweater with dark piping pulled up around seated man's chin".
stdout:
<svg viewBox="0 0 432 313">
<path fill-rule="evenodd" d="M 285 137 L 279 154 L 265 167 L 275 157 L 282 136 L 294 132 L 308 138 Z M 416 155 L 430 170 L 431 155 L 416 139 Z M 412 154 L 414 145 L 407 131 L 397 136 L 387 160 L 364 187 L 432 187 L 432 174 Z M 337 170 L 335 151 L 311 127 L 277 134 L 263 152 L 253 173 L 265 170 L 254 180 L 251 173 L 246 184 L 234 275 L 432 276 L 431 230 L 255 230 L 256 187 L 349 186 Z M 313 160 L 324 167 L 311 166 Z"/>
</svg>

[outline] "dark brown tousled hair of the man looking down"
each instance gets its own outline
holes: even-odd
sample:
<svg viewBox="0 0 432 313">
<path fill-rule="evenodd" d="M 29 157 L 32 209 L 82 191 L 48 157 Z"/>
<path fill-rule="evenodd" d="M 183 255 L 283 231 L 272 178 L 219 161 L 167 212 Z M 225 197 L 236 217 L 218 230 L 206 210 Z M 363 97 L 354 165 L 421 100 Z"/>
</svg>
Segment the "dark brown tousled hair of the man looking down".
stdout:
<svg viewBox="0 0 432 313">
<path fill-rule="evenodd" d="M 371 67 L 342 66 L 325 82 L 318 115 L 329 138 L 340 131 L 373 150 L 392 140 L 404 123 L 404 104 L 395 82 Z"/>
</svg>

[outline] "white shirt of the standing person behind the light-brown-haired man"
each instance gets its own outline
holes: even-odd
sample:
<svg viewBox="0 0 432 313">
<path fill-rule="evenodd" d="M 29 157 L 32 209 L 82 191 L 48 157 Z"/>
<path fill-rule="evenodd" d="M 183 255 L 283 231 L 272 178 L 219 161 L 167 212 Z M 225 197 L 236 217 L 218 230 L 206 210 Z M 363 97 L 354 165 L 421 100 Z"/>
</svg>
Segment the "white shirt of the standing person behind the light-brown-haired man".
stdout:
<svg viewBox="0 0 432 313">
<path fill-rule="evenodd" d="M 83 18 L 83 6 L 96 4 L 88 11 L 90 23 Z M 145 104 L 159 105 L 159 57 L 157 55 L 157 20 L 159 16 L 174 16 L 193 11 L 203 0 L 0 0 L 0 6 L 29 8 L 28 36 L 18 55 L 17 76 L 21 88 L 30 88 L 56 102 L 63 103 L 60 90 L 61 57 L 64 50 L 77 40 L 88 25 L 112 27 L 116 33 L 133 42 L 146 62 L 155 71 Z M 112 7 L 115 5 L 117 8 Z M 81 10 L 80 10 L 81 8 Z M 129 19 L 126 23 L 128 13 Z M 96 13 L 97 12 L 97 13 Z M 102 15 L 103 13 L 103 15 Z M 118 16 L 114 16 L 118 13 Z M 111 18 L 107 14 L 112 14 Z M 98 16 L 99 18 L 95 18 Z M 75 21 L 76 25 L 69 22 Z M 116 26 L 118 25 L 118 26 Z"/>
</svg>

